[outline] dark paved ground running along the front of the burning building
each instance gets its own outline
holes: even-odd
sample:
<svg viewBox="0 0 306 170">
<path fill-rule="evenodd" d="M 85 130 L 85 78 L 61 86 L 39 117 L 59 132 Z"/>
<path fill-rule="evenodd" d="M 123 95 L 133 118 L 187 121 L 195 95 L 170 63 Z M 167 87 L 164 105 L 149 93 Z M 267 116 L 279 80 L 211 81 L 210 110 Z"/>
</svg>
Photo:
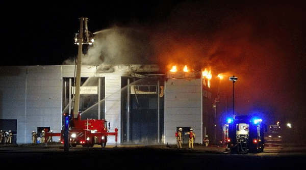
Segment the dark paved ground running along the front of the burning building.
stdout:
<svg viewBox="0 0 306 170">
<path fill-rule="evenodd" d="M 233 154 L 225 146 L 108 145 L 78 146 L 64 152 L 63 145 L 0 146 L 0 167 L 43 169 L 306 169 L 306 147 L 265 148 L 258 154 Z"/>
</svg>

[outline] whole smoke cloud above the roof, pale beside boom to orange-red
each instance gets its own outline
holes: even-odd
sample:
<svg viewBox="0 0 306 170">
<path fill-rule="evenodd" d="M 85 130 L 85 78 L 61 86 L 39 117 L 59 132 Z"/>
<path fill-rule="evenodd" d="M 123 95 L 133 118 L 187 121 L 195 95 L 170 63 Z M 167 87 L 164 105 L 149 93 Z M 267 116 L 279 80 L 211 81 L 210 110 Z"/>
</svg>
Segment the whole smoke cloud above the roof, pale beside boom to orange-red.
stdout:
<svg viewBox="0 0 306 170">
<path fill-rule="evenodd" d="M 214 76 L 239 77 L 235 83 L 239 114 L 259 110 L 266 111 L 269 121 L 299 122 L 306 118 L 303 7 L 294 1 L 183 2 L 167 15 L 157 10 L 156 18 L 144 25 L 95 33 L 83 64 L 157 63 L 163 71 L 173 64 L 195 70 L 211 67 Z M 227 78 L 221 81 L 229 103 L 232 87 Z"/>
</svg>

